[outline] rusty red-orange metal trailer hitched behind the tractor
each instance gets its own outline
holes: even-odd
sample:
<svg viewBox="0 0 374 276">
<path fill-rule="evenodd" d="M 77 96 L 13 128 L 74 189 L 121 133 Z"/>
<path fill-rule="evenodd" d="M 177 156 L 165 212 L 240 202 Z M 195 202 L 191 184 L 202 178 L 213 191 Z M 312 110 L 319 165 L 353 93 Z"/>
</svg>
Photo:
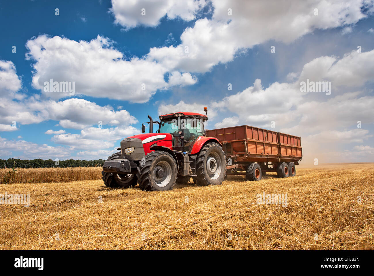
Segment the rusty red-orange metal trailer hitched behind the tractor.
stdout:
<svg viewBox="0 0 374 276">
<path fill-rule="evenodd" d="M 226 174 L 243 174 L 248 180 L 261 180 L 268 171 L 294 176 L 303 157 L 301 138 L 281 132 L 244 125 L 206 130 L 206 135 L 223 145 Z"/>
</svg>

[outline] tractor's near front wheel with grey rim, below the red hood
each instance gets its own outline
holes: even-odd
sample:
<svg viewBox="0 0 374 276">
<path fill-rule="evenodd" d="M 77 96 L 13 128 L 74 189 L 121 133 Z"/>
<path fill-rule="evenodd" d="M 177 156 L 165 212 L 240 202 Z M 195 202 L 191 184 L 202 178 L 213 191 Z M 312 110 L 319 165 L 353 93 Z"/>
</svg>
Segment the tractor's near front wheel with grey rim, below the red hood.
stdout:
<svg viewBox="0 0 374 276">
<path fill-rule="evenodd" d="M 177 163 L 170 153 L 153 151 L 138 166 L 138 183 L 142 190 L 171 190 L 177 179 Z"/>
</svg>

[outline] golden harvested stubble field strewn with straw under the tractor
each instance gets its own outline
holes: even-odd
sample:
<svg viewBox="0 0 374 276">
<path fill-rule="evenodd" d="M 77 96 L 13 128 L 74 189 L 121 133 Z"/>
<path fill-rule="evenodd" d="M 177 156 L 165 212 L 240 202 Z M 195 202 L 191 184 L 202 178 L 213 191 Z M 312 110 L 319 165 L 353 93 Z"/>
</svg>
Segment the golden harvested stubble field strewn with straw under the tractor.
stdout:
<svg viewBox="0 0 374 276">
<path fill-rule="evenodd" d="M 0 249 L 374 249 L 373 180 L 365 163 L 166 192 L 101 180 L 1 184 L 0 193 L 29 193 L 30 207 L 0 205 Z M 263 192 L 287 193 L 287 207 L 257 204 Z"/>
</svg>

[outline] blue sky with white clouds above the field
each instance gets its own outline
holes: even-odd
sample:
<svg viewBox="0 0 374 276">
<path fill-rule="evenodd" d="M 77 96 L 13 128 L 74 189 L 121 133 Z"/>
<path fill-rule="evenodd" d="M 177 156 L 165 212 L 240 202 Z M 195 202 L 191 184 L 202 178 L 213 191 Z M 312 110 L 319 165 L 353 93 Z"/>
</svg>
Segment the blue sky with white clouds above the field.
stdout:
<svg viewBox="0 0 374 276">
<path fill-rule="evenodd" d="M 278 5 L 2 3 L 1 158 L 105 158 L 147 114 L 208 106 L 210 129 L 273 121 L 301 136 L 306 163 L 374 161 L 373 2 Z M 74 95 L 43 91 L 50 78 Z M 306 79 L 331 95 L 301 93 Z"/>
</svg>

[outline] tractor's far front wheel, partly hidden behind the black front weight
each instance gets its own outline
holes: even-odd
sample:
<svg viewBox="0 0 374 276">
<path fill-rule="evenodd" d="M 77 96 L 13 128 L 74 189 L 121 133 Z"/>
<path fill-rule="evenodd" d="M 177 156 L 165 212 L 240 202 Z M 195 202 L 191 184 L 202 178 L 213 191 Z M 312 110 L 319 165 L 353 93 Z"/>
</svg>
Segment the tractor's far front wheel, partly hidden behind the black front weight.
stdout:
<svg viewBox="0 0 374 276">
<path fill-rule="evenodd" d="M 118 151 L 108 157 L 107 160 L 122 159 L 121 152 Z M 102 180 L 107 187 L 123 187 L 128 188 L 137 184 L 137 176 L 135 174 L 116 174 L 113 172 L 101 172 Z"/>
</svg>

